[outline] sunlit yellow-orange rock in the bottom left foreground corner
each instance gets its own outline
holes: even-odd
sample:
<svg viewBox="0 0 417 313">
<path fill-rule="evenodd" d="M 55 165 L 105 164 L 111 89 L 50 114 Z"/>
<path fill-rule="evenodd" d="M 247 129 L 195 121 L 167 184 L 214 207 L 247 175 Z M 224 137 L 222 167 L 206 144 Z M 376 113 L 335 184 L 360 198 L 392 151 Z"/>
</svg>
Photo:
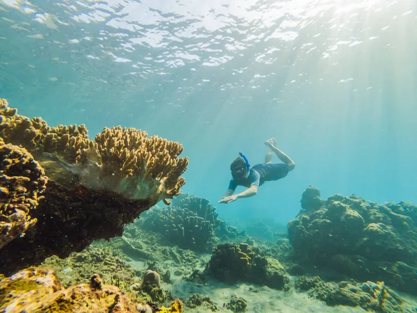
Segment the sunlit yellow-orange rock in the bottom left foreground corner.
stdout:
<svg viewBox="0 0 417 313">
<path fill-rule="evenodd" d="M 20 312 L 138 312 L 120 289 L 92 275 L 89 284 L 63 289 L 54 271 L 28 268 L 0 281 L 0 307 Z"/>
</svg>

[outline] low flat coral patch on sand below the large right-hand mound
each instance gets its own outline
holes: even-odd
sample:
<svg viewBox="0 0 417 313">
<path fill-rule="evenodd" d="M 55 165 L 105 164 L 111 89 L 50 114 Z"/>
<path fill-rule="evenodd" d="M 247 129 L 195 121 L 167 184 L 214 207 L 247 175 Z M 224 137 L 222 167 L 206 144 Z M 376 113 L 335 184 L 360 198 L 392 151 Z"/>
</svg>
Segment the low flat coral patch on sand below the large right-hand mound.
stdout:
<svg viewBox="0 0 417 313">
<path fill-rule="evenodd" d="M 320 278 L 303 276 L 295 282 L 295 288 L 309 291 L 313 298 L 325 301 L 327 305 L 360 306 L 373 312 L 407 312 L 403 300 L 384 282 L 323 282 Z"/>
</svg>

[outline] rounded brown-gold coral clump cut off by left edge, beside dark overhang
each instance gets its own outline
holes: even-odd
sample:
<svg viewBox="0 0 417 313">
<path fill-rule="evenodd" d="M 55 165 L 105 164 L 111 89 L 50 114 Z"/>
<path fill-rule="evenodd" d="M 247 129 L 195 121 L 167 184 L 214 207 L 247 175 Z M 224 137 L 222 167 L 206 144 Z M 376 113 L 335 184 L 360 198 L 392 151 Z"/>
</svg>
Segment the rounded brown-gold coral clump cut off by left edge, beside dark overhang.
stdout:
<svg viewBox="0 0 417 313">
<path fill-rule="evenodd" d="M 47 184 L 43 168 L 22 147 L 0 138 L 0 249 L 35 225 L 32 210 L 38 207 Z"/>
</svg>

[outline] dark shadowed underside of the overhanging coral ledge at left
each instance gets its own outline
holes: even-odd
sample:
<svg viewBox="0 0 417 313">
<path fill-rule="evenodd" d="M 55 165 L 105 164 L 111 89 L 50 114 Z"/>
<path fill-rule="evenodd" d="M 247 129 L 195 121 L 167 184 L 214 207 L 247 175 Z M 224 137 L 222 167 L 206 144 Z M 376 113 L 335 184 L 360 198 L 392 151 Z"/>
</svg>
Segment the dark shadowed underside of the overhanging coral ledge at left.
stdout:
<svg viewBox="0 0 417 313">
<path fill-rule="evenodd" d="M 42 162 L 41 162 L 42 164 Z M 85 188 L 69 190 L 49 177 L 44 199 L 31 214 L 38 222 L 24 237 L 0 250 L 0 271 L 8 274 L 47 257 L 68 257 L 85 249 L 95 239 L 121 236 L 126 223 L 149 205 L 142 200 L 126 201 L 116 194 Z"/>
</svg>

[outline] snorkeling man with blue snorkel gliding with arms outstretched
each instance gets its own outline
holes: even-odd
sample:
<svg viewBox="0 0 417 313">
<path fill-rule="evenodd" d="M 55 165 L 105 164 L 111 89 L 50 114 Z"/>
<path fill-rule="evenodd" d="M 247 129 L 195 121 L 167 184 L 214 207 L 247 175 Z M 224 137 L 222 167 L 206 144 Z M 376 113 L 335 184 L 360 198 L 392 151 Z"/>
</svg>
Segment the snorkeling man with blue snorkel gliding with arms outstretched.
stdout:
<svg viewBox="0 0 417 313">
<path fill-rule="evenodd" d="M 289 171 L 295 168 L 295 163 L 284 152 L 279 150 L 275 145 L 277 141 L 275 138 L 270 138 L 265 141 L 265 145 L 270 147 L 268 154 L 265 156 L 265 163 L 256 164 L 250 168 L 249 161 L 240 152 L 240 157 L 237 157 L 231 163 L 230 170 L 233 177 L 229 183 L 229 188 L 226 194 L 218 203 L 230 203 L 239 198 L 249 198 L 256 195 L 258 187 L 264 182 L 278 180 L 286 177 Z M 272 152 L 275 152 L 278 159 L 284 163 L 272 164 Z M 234 195 L 237 186 L 245 186 L 247 189 L 241 193 Z"/>
</svg>

